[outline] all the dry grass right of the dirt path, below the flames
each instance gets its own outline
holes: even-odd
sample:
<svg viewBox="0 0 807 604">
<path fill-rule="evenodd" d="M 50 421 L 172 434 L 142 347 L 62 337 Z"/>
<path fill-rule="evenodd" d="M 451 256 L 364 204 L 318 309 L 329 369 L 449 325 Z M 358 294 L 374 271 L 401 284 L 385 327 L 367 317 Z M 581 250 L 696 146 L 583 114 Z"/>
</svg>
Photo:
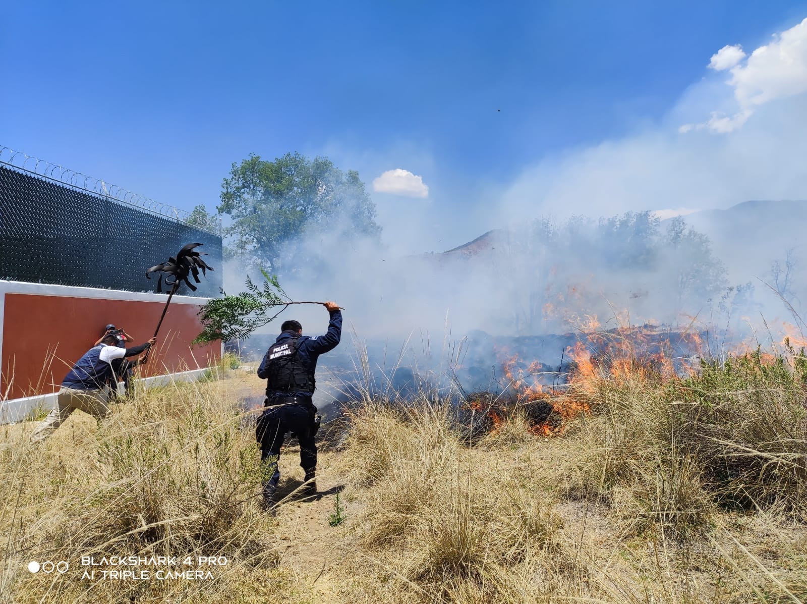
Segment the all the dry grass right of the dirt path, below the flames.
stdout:
<svg viewBox="0 0 807 604">
<path fill-rule="evenodd" d="M 445 403 L 365 401 L 341 463 L 379 600 L 801 602 L 807 382 L 742 363 L 594 374 L 560 436 L 516 413 L 475 447 Z"/>
</svg>

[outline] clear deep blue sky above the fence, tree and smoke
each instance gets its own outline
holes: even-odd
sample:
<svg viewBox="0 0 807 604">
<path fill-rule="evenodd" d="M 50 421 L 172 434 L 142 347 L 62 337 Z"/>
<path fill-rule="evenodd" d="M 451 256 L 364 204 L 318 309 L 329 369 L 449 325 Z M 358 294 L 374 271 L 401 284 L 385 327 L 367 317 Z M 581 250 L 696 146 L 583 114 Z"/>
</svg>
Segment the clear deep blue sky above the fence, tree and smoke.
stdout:
<svg viewBox="0 0 807 604">
<path fill-rule="evenodd" d="M 215 206 L 249 153 L 327 154 L 370 189 L 408 170 L 429 198 L 374 193 L 379 216 L 428 214 L 434 229 L 412 222 L 410 234 L 440 249 L 529 214 L 524 203 L 486 214 L 500 196 L 529 198 L 529 174 L 708 119 L 728 90 L 710 57 L 734 44 L 750 54 L 807 6 L 13 2 L 3 13 L 0 145 L 186 209 Z M 427 237 L 458 211 L 447 241 Z"/>
</svg>

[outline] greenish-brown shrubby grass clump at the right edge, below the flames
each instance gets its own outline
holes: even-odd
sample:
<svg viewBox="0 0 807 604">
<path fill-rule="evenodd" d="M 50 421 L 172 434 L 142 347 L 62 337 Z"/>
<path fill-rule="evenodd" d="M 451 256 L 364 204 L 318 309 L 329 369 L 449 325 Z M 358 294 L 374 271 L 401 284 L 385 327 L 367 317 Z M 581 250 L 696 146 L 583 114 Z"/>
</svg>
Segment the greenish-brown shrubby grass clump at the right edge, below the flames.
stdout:
<svg viewBox="0 0 807 604">
<path fill-rule="evenodd" d="M 779 505 L 807 518 L 804 350 L 704 362 L 664 399 L 722 505 Z"/>
</svg>

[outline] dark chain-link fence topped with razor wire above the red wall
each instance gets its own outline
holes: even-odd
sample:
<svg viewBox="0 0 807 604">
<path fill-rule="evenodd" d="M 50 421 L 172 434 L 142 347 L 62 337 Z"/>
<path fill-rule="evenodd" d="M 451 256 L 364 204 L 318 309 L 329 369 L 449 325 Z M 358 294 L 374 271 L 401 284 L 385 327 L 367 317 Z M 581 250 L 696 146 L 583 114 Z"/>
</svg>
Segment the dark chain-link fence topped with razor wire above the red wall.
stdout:
<svg viewBox="0 0 807 604">
<path fill-rule="evenodd" d="M 179 293 L 220 295 L 220 234 L 162 216 L 168 206 L 138 207 L 6 159 L 0 155 L 0 279 L 154 292 L 146 269 L 194 242 L 215 271 L 196 292 Z"/>
</svg>

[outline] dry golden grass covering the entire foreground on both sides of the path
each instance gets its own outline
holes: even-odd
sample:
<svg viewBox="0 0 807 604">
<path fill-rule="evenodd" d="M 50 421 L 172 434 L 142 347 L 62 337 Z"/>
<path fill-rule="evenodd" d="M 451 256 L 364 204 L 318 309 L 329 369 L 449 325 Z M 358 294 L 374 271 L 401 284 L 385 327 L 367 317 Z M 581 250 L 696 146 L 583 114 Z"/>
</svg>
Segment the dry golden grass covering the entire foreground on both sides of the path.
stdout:
<svg viewBox="0 0 807 604">
<path fill-rule="evenodd" d="M 593 413 L 559 436 L 535 437 L 514 416 L 475 447 L 445 401 L 426 393 L 405 406 L 366 400 L 350 413 L 344 449 L 320 455 L 320 489 L 344 486 L 347 520 L 329 526 L 330 496 L 291 498 L 277 518 L 259 510 L 264 476 L 253 430 L 235 405 L 238 392 L 257 392 L 260 382 L 241 375 L 141 393 L 102 426 L 74 413 L 38 448 L 27 443 L 33 425 L 0 428 L 0 599 L 807 598 L 807 530 L 797 505 L 804 437 L 793 435 L 802 420 L 792 384 L 767 383 L 766 400 L 780 406 L 766 420 L 760 384 L 756 394 L 734 388 L 693 415 L 692 401 L 669 384 L 603 377 L 587 384 Z M 741 410 L 742 422 L 719 424 Z M 704 418 L 709 434 L 742 444 L 747 455 L 714 440 L 696 447 Z M 755 465 L 748 450 L 782 461 Z M 283 484 L 291 487 L 299 482 L 296 455 L 290 449 L 281 459 Z M 717 481 L 715 455 L 737 473 Z M 744 493 L 764 497 L 728 505 L 736 502 L 726 496 L 738 489 L 732 481 L 751 479 Z M 773 497 L 777 480 L 787 493 Z M 103 555 L 215 555 L 227 556 L 228 565 L 215 581 L 93 582 L 72 567 L 64 576 L 26 570 L 28 560 Z"/>
</svg>

